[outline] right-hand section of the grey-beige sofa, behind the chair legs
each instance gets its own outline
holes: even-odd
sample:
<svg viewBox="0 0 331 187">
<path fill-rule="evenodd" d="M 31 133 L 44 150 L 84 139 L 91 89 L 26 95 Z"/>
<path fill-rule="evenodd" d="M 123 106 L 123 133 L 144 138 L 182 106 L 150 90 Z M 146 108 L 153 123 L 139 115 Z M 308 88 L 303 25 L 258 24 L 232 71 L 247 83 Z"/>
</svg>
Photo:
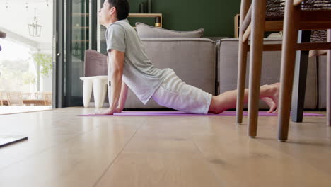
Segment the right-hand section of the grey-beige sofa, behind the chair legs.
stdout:
<svg viewBox="0 0 331 187">
<path fill-rule="evenodd" d="M 265 40 L 265 44 L 279 44 L 281 40 Z M 217 47 L 219 46 L 219 47 Z M 237 89 L 238 76 L 238 39 L 223 39 L 216 44 L 219 94 Z M 248 52 L 248 62 L 246 67 L 245 88 L 248 88 L 248 77 L 250 67 L 250 52 Z M 281 66 L 281 51 L 263 52 L 262 74 L 260 84 L 273 84 L 279 82 Z M 306 82 L 306 109 L 315 109 L 317 106 L 317 75 L 315 58 L 310 57 L 308 62 L 307 82 Z M 245 105 L 247 108 L 247 105 Z M 268 106 L 260 101 L 260 108 L 267 109 Z"/>
</svg>

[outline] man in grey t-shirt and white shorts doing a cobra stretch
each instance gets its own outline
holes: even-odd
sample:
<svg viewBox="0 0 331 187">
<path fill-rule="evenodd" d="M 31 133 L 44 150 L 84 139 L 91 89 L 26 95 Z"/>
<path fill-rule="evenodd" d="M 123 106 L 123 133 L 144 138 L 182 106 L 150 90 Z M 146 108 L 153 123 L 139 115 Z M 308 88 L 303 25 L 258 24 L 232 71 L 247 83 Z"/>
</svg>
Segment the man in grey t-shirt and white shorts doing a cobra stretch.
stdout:
<svg viewBox="0 0 331 187">
<path fill-rule="evenodd" d="M 144 45 L 136 30 L 127 21 L 127 0 L 105 0 L 98 12 L 100 24 L 107 28 L 105 35 L 108 51 L 108 89 L 110 107 L 97 114 L 120 113 L 127 99 L 128 87 L 146 104 L 153 98 L 159 105 L 187 113 L 221 113 L 236 107 L 237 91 L 227 91 L 219 96 L 185 84 L 173 69 L 158 69 L 146 56 Z M 277 112 L 279 83 L 260 87 L 260 98 Z M 245 89 L 244 102 L 248 102 Z"/>
</svg>

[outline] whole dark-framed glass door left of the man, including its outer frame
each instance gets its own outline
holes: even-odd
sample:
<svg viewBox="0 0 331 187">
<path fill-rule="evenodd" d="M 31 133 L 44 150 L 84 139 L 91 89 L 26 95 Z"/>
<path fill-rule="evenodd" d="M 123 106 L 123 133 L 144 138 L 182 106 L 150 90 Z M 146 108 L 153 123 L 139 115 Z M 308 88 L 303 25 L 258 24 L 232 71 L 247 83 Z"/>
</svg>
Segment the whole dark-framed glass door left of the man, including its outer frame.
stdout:
<svg viewBox="0 0 331 187">
<path fill-rule="evenodd" d="M 95 49 L 96 6 L 92 0 L 59 0 L 54 26 L 56 108 L 83 106 L 85 51 Z M 95 8 L 93 8 L 95 7 Z"/>
</svg>

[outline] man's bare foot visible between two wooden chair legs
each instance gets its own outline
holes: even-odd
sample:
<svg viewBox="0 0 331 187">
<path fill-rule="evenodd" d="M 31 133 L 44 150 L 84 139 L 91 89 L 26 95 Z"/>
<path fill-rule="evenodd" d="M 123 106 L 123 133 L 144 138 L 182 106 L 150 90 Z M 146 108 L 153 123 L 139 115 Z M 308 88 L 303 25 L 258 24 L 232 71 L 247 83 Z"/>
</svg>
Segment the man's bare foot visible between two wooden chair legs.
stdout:
<svg viewBox="0 0 331 187">
<path fill-rule="evenodd" d="M 269 90 L 269 96 L 261 98 L 262 101 L 265 101 L 265 103 L 267 103 L 269 106 L 268 113 L 277 113 L 279 100 L 279 82 L 263 86 L 267 86 L 267 89 Z"/>
</svg>

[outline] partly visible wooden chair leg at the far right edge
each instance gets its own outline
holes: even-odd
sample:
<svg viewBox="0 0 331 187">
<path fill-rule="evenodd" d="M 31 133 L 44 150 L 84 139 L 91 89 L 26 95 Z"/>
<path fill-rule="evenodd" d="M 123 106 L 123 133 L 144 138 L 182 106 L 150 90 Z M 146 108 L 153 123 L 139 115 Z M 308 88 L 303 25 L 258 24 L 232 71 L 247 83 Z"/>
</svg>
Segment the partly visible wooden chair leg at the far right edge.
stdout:
<svg viewBox="0 0 331 187">
<path fill-rule="evenodd" d="M 331 29 L 327 30 L 327 42 L 331 42 Z M 331 50 L 327 50 L 327 125 L 331 126 Z"/>
</svg>

